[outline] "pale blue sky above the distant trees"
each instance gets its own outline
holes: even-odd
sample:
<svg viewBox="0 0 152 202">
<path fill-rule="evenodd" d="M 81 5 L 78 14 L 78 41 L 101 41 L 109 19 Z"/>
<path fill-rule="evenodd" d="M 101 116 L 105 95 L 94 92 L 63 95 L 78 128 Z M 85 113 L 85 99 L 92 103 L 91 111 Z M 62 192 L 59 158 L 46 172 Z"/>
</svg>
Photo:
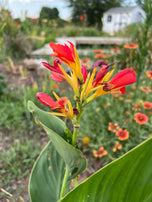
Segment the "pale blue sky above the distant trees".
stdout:
<svg viewBox="0 0 152 202">
<path fill-rule="evenodd" d="M 0 0 L 0 5 L 8 8 L 14 18 L 24 19 L 25 11 L 28 17 L 37 18 L 43 6 L 59 10 L 59 15 L 63 19 L 70 19 L 70 8 L 66 0 Z"/>
</svg>

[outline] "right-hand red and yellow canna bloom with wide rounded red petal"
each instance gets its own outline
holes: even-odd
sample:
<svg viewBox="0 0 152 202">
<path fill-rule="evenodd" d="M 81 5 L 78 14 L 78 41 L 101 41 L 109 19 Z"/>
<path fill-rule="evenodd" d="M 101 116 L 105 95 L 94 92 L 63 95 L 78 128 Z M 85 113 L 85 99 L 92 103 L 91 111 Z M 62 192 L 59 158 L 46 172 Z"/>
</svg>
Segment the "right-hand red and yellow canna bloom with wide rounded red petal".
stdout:
<svg viewBox="0 0 152 202">
<path fill-rule="evenodd" d="M 107 93 L 125 94 L 125 86 L 136 82 L 136 74 L 132 69 L 125 69 L 117 73 L 109 81 L 114 72 L 114 69 L 112 71 L 109 71 L 109 66 L 112 66 L 115 63 L 116 62 L 108 65 L 102 60 L 95 62 L 95 64 L 93 65 L 93 72 L 91 75 L 90 73 L 88 74 L 86 83 L 83 86 L 81 99 L 86 99 L 93 91 L 95 92 L 87 98 L 86 103 L 89 103 L 96 97 Z M 101 67 L 101 69 L 96 74 L 98 66 Z"/>
</svg>

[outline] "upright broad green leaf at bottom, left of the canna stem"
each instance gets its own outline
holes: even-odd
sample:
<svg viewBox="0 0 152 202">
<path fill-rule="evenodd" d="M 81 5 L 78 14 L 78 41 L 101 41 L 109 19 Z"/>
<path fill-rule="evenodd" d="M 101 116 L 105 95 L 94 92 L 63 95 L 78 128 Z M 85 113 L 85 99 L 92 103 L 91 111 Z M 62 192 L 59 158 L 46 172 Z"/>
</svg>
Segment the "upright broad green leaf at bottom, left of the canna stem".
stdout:
<svg viewBox="0 0 152 202">
<path fill-rule="evenodd" d="M 33 167 L 29 193 L 32 202 L 56 202 L 60 197 L 65 163 L 53 144 L 42 150 Z"/>
</svg>

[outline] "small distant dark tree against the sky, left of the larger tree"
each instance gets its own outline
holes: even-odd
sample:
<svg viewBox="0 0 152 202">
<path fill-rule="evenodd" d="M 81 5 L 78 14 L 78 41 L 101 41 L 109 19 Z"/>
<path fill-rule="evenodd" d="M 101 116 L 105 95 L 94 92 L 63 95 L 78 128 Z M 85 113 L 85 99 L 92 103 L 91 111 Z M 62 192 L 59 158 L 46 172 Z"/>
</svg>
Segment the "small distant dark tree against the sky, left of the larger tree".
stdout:
<svg viewBox="0 0 152 202">
<path fill-rule="evenodd" d="M 40 21 L 42 19 L 52 20 L 59 18 L 59 11 L 57 8 L 42 7 L 40 11 Z"/>
</svg>

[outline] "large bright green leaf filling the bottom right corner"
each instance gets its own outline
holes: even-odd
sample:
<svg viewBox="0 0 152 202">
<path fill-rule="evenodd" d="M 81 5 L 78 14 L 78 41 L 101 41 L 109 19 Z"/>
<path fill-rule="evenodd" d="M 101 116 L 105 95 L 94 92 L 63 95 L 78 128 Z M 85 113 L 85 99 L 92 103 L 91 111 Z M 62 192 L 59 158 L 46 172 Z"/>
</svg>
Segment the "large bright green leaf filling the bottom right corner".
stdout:
<svg viewBox="0 0 152 202">
<path fill-rule="evenodd" d="M 62 202 L 151 202 L 152 139 L 105 166 Z"/>
</svg>

